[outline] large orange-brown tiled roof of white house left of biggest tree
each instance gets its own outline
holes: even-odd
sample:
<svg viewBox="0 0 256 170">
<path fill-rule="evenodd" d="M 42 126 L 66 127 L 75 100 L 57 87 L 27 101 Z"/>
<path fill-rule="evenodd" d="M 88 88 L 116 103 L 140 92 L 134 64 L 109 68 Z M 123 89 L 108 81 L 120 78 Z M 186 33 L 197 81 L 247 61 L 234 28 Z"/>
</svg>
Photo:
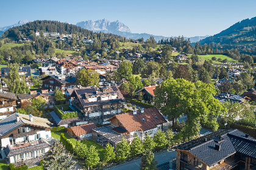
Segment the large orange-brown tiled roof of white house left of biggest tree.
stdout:
<svg viewBox="0 0 256 170">
<path fill-rule="evenodd" d="M 165 118 L 155 107 L 144 109 L 143 114 L 141 114 L 141 110 L 137 110 L 136 115 L 133 115 L 133 112 L 127 112 L 125 114 L 115 115 L 112 118 L 117 118 L 128 132 L 139 130 L 148 131 L 157 127 L 158 124 L 166 122 Z"/>
</svg>

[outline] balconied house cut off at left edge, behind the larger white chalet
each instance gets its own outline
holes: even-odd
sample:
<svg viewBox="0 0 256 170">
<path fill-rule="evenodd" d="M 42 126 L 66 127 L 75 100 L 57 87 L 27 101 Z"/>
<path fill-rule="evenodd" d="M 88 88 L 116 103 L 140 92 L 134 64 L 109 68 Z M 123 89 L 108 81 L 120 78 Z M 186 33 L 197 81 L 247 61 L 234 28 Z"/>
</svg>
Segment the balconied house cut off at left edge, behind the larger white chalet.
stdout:
<svg viewBox="0 0 256 170">
<path fill-rule="evenodd" d="M 17 100 L 18 98 L 15 94 L 0 89 L 0 120 L 6 118 L 7 115 L 13 114 L 16 110 Z"/>
</svg>

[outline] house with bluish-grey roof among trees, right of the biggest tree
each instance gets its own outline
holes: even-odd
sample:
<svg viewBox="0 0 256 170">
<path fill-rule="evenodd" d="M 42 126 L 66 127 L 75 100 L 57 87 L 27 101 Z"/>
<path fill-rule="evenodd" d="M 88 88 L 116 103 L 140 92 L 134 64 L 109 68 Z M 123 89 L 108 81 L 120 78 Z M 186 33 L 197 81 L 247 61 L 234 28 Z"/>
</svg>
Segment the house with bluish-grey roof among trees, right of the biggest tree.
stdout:
<svg viewBox="0 0 256 170">
<path fill-rule="evenodd" d="M 218 99 L 222 104 L 226 101 L 230 101 L 230 103 L 242 103 L 244 100 L 250 99 L 243 95 L 228 94 L 226 92 L 220 92 L 218 95 L 214 96 L 214 98 Z"/>
</svg>

